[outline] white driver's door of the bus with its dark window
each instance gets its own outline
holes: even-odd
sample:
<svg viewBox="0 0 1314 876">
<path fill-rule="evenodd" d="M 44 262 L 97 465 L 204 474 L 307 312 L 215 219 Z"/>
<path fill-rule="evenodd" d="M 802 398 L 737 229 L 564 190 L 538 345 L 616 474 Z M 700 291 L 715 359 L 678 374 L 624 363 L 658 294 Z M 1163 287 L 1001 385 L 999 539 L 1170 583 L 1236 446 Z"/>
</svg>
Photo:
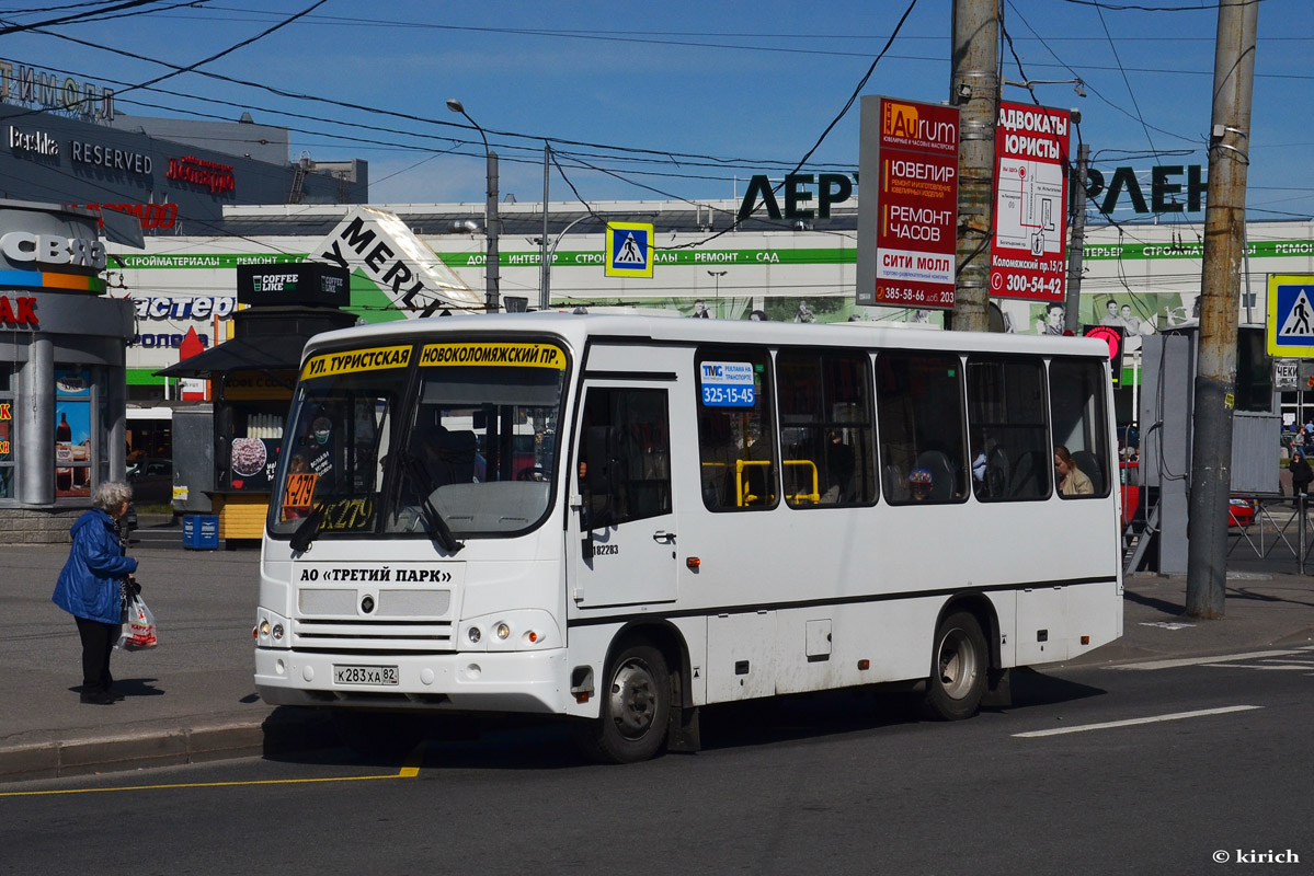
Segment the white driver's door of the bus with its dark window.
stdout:
<svg viewBox="0 0 1314 876">
<path fill-rule="evenodd" d="M 669 394 L 666 386 L 585 382 L 566 545 L 578 605 L 675 599 Z"/>
</svg>

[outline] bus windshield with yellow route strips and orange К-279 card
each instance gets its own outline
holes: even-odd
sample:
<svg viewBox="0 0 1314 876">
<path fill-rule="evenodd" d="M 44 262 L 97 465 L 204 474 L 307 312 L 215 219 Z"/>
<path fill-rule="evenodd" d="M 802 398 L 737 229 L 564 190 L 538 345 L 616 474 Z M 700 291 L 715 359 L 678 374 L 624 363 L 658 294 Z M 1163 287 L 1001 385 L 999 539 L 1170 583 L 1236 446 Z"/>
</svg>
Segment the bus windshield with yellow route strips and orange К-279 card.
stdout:
<svg viewBox="0 0 1314 876">
<path fill-rule="evenodd" d="M 566 357 L 545 343 L 313 356 L 285 432 L 272 535 L 507 535 L 548 510 Z M 307 523 L 307 520 L 310 523 Z"/>
</svg>

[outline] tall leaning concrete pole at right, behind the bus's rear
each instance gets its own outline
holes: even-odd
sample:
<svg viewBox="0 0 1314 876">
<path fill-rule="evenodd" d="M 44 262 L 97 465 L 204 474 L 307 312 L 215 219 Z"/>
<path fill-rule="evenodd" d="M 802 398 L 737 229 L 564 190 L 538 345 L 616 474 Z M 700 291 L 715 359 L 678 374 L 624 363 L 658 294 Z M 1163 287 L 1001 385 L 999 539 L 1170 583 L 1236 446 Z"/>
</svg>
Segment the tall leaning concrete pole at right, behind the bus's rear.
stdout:
<svg viewBox="0 0 1314 876">
<path fill-rule="evenodd" d="M 1187 613 L 1222 617 L 1227 584 L 1227 499 L 1236 387 L 1236 313 L 1246 235 L 1250 102 L 1255 85 L 1255 0 L 1221 0 L 1209 135 L 1209 202 L 1200 292 L 1200 351 L 1187 523 Z"/>
</svg>

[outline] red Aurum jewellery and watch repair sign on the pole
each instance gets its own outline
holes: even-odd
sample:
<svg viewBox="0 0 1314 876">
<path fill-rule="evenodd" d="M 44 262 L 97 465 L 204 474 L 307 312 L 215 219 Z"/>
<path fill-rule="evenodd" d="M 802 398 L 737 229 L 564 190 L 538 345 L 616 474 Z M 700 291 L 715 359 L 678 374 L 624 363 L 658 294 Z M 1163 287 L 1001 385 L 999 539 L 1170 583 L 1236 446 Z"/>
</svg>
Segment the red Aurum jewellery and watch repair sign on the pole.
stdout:
<svg viewBox="0 0 1314 876">
<path fill-rule="evenodd" d="M 953 307 L 958 109 L 863 97 L 859 173 L 876 183 L 876 209 L 859 198 L 858 261 L 874 264 L 859 267 L 857 302 Z"/>
</svg>

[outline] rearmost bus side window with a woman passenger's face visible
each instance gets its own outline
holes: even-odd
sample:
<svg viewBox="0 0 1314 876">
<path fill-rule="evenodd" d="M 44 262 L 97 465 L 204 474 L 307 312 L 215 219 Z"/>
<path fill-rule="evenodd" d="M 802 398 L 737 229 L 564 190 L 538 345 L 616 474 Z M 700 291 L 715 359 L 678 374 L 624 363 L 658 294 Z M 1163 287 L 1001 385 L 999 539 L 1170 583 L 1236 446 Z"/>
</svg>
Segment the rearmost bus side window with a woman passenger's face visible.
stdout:
<svg viewBox="0 0 1314 876">
<path fill-rule="evenodd" d="M 1072 464 L 1091 479 L 1092 487 L 1089 493 L 1079 493 L 1072 486 L 1064 491 L 1060 482 L 1058 493 L 1064 499 L 1109 495 L 1113 466 L 1109 462 L 1109 431 L 1104 412 L 1108 383 L 1100 362 L 1058 359 L 1050 362 L 1050 415 L 1054 423 L 1054 448 L 1050 449 L 1067 449 Z M 1064 468 L 1068 468 L 1066 461 Z"/>
</svg>

